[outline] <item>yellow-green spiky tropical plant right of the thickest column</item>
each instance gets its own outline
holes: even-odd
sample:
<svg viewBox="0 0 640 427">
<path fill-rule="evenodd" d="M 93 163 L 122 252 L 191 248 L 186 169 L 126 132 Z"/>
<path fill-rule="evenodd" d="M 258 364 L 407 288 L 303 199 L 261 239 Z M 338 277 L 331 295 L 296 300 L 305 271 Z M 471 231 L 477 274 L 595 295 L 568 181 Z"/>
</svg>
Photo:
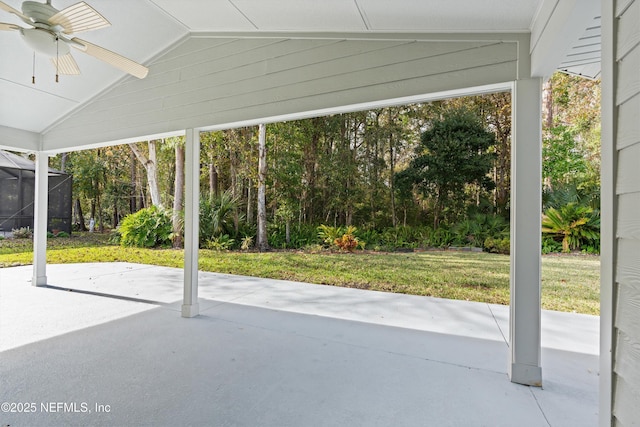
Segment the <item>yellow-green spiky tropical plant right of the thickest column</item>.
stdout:
<svg viewBox="0 0 640 427">
<path fill-rule="evenodd" d="M 569 203 L 559 209 L 549 208 L 542 218 L 542 232 L 562 240 L 562 252 L 580 249 L 600 237 L 600 215 L 588 206 Z"/>
</svg>

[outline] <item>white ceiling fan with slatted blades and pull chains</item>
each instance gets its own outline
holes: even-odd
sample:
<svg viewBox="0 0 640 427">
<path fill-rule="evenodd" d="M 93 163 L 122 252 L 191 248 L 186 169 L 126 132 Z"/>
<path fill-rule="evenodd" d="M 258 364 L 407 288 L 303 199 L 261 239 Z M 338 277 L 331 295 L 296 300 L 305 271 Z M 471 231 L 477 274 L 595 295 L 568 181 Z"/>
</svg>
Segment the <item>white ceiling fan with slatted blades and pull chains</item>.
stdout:
<svg viewBox="0 0 640 427">
<path fill-rule="evenodd" d="M 22 3 L 22 11 L 0 1 L 0 9 L 16 15 L 32 27 L 23 28 L 19 25 L 0 22 L 0 30 L 19 31 L 24 41 L 34 51 L 51 58 L 56 71 L 60 74 L 80 74 L 78 64 L 70 52 L 70 48 L 74 47 L 140 79 L 146 77 L 149 72 L 147 67 L 74 36 L 76 33 L 111 25 L 95 9 L 85 2 L 80 2 L 66 9 L 57 10 L 51 6 L 51 0 L 46 1 L 46 3 L 25 1 Z"/>
</svg>

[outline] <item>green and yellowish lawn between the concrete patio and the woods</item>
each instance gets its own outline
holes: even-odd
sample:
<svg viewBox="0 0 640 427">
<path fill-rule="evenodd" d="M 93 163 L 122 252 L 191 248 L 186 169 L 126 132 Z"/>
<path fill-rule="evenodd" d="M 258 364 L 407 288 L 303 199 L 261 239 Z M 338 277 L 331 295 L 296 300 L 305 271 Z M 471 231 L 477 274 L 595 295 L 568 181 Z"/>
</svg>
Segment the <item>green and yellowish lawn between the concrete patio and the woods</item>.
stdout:
<svg viewBox="0 0 640 427">
<path fill-rule="evenodd" d="M 49 239 L 50 263 L 126 261 L 169 267 L 183 265 L 172 249 L 121 248 L 103 235 L 74 234 Z M 0 267 L 31 264 L 31 241 L 0 240 Z M 509 303 L 509 257 L 488 253 L 266 253 L 200 251 L 203 271 L 296 280 L 376 291 L 429 295 L 496 304 Z M 599 314 L 600 259 L 544 256 L 542 307 Z"/>
</svg>

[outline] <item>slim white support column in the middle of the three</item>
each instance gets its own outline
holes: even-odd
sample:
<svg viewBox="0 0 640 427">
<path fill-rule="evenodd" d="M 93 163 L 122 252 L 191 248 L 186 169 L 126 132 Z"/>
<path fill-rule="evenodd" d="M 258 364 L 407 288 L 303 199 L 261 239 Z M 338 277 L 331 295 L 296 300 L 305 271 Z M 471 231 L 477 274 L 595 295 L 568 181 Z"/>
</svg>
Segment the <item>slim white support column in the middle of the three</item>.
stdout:
<svg viewBox="0 0 640 427">
<path fill-rule="evenodd" d="M 200 131 L 187 129 L 184 198 L 184 301 L 182 317 L 195 317 L 198 306 L 200 227 Z"/>
</svg>

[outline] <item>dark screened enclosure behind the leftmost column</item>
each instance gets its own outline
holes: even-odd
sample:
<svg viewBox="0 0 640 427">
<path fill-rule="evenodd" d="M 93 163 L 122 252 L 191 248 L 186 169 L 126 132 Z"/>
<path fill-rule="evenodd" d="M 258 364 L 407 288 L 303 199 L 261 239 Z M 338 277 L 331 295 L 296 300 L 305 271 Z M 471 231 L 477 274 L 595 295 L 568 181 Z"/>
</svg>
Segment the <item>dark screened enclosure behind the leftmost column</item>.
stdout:
<svg viewBox="0 0 640 427">
<path fill-rule="evenodd" d="M 47 230 L 71 233 L 72 177 L 49 168 Z M 33 229 L 35 163 L 0 150 L 0 233 Z"/>
</svg>

